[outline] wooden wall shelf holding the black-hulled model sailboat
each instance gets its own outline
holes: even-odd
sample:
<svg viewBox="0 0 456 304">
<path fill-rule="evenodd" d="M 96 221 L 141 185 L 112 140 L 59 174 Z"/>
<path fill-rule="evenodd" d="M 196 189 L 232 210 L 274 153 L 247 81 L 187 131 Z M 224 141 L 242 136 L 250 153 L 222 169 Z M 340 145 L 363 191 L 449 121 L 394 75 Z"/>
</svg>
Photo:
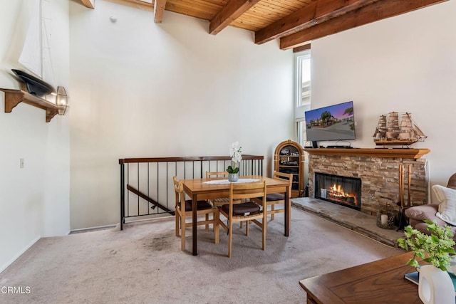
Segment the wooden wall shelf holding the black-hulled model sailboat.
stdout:
<svg viewBox="0 0 456 304">
<path fill-rule="evenodd" d="M 2 89 L 0 91 L 5 93 L 5 113 L 11 113 L 16 105 L 19 103 L 26 103 L 33 105 L 33 107 L 40 108 L 46 111 L 46 122 L 50 122 L 51 119 L 57 115 L 58 107 L 54 103 L 48 102 L 43 98 L 39 98 L 35 95 L 31 95 L 23 90 L 12 90 Z"/>
</svg>

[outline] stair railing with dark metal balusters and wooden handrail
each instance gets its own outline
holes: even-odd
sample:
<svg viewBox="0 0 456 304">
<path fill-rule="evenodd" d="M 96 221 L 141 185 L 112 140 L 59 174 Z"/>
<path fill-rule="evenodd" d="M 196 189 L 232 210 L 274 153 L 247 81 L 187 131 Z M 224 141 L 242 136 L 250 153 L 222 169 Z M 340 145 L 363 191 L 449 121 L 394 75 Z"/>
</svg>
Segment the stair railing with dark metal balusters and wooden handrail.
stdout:
<svg viewBox="0 0 456 304">
<path fill-rule="evenodd" d="M 240 175 L 263 175 L 261 155 L 242 155 Z M 125 219 L 137 216 L 175 215 L 172 177 L 198 179 L 206 171 L 221 171 L 231 164 L 229 156 L 147 157 L 119 159 L 120 230 Z M 136 204 L 133 203 L 135 200 Z M 150 206 L 152 205 L 152 206 Z"/>
</svg>

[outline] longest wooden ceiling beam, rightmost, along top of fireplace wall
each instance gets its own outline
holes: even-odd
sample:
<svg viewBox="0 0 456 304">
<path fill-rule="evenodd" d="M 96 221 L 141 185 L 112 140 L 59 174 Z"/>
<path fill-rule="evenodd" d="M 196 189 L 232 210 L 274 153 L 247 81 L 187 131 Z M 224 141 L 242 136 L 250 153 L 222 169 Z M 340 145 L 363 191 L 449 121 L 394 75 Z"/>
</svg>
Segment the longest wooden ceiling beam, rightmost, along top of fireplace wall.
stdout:
<svg viewBox="0 0 456 304">
<path fill-rule="evenodd" d="M 309 43 L 311 40 L 339 33 L 349 28 L 355 28 L 367 23 L 386 19 L 389 17 L 415 11 L 425 6 L 438 4 L 448 0 L 382 0 L 355 11 L 348 12 L 330 19 L 316 26 L 311 26 L 304 31 L 292 33 L 280 38 L 280 48 L 286 50 Z"/>
</svg>

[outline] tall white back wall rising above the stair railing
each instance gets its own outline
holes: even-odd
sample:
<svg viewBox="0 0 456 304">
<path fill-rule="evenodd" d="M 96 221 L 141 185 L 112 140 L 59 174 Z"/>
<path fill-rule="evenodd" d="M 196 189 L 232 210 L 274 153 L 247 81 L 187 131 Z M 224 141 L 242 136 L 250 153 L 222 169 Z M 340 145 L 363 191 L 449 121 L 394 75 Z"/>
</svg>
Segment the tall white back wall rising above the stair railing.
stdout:
<svg viewBox="0 0 456 304">
<path fill-rule="evenodd" d="M 71 228 L 119 222 L 118 159 L 266 157 L 294 136 L 293 55 L 277 41 L 165 11 L 70 4 Z M 116 16 L 117 23 L 110 22 Z"/>
</svg>

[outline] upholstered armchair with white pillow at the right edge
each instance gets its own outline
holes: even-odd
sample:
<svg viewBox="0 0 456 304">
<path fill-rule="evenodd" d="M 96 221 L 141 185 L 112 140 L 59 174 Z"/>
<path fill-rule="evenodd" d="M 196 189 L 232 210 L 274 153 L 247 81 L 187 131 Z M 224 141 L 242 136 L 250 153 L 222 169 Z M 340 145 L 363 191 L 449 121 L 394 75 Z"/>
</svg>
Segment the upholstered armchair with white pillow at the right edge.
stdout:
<svg viewBox="0 0 456 304">
<path fill-rule="evenodd" d="M 414 229 L 429 234 L 427 224 L 423 221 L 437 220 L 441 226 L 451 226 L 456 240 L 456 173 L 448 179 L 447 187 L 435 185 L 432 187 L 438 203 L 413 206 L 405 209 L 405 216 Z"/>
</svg>

